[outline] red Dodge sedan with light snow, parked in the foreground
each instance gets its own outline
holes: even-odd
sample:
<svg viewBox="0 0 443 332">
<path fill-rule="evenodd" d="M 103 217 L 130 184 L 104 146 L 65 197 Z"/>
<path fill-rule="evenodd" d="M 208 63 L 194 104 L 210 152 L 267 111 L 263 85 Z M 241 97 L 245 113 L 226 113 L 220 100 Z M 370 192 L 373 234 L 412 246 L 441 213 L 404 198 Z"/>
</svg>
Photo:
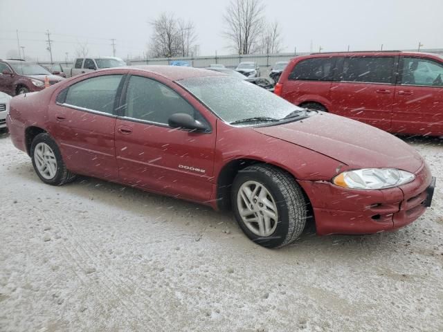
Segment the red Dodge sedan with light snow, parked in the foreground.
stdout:
<svg viewBox="0 0 443 332">
<path fill-rule="evenodd" d="M 195 68 L 73 77 L 12 98 L 7 123 L 44 183 L 83 174 L 232 208 L 269 248 L 295 240 L 311 216 L 318 234 L 395 230 L 425 212 L 435 185 L 389 133 Z"/>
</svg>

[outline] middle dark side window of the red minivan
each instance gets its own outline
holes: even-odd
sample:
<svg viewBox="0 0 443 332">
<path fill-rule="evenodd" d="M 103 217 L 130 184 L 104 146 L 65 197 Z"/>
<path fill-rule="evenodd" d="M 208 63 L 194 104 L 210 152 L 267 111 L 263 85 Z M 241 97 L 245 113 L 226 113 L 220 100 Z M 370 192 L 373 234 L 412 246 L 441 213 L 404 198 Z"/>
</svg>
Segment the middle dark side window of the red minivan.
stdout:
<svg viewBox="0 0 443 332">
<path fill-rule="evenodd" d="M 394 57 L 345 57 L 341 81 L 391 84 Z"/>
</svg>

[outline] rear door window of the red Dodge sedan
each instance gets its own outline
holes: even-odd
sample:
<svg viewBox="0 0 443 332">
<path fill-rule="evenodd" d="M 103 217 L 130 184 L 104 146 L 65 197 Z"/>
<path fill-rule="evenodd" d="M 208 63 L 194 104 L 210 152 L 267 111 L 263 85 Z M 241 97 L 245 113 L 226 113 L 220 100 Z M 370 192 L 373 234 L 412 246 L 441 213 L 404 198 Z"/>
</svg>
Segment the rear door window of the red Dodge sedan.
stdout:
<svg viewBox="0 0 443 332">
<path fill-rule="evenodd" d="M 114 114 L 114 102 L 123 75 L 92 77 L 69 86 L 64 104 L 88 111 Z M 57 98 L 57 101 L 59 99 Z"/>
</svg>

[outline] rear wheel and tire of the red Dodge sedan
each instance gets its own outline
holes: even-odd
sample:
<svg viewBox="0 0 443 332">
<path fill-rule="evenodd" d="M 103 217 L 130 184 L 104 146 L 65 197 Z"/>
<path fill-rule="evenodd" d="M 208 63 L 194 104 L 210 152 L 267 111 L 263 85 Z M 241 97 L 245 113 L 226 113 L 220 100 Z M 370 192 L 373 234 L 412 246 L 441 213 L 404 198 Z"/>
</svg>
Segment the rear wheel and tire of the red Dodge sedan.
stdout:
<svg viewBox="0 0 443 332">
<path fill-rule="evenodd" d="M 35 136 L 30 156 L 35 172 L 48 185 L 64 185 L 75 178 L 75 174 L 66 169 L 60 149 L 48 133 Z"/>
</svg>

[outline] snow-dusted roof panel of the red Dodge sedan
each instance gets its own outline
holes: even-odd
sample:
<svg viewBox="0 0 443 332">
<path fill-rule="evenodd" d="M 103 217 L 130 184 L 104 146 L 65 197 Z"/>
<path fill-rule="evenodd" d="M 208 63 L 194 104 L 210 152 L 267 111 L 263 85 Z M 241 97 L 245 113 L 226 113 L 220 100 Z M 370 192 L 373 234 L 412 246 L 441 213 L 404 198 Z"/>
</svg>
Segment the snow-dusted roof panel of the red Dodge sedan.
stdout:
<svg viewBox="0 0 443 332">
<path fill-rule="evenodd" d="M 220 76 L 217 71 L 209 71 L 201 68 L 184 67 L 184 66 L 127 66 L 128 69 L 137 69 L 139 71 L 147 71 L 166 77 L 172 81 L 184 80 L 191 77 L 204 77 L 204 76 Z M 116 68 L 118 69 L 118 68 Z M 121 69 L 121 67 L 120 67 Z"/>
</svg>

